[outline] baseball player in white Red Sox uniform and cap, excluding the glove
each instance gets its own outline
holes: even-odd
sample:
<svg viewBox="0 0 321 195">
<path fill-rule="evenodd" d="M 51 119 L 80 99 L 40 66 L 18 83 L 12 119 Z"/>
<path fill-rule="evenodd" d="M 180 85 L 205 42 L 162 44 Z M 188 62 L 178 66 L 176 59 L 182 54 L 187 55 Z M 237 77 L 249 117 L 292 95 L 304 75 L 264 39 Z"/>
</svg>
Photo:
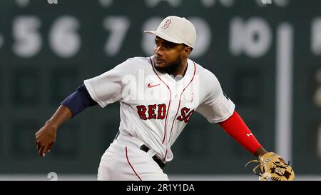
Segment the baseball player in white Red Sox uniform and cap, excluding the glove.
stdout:
<svg viewBox="0 0 321 195">
<path fill-rule="evenodd" d="M 168 16 L 156 31 L 145 32 L 156 36 L 154 55 L 127 59 L 83 81 L 36 132 L 38 153 L 50 151 L 67 119 L 88 106 L 119 101 L 119 132 L 101 157 L 98 180 L 168 180 L 163 167 L 173 159 L 170 147 L 195 111 L 255 156 L 266 154 L 215 75 L 188 59 L 196 41 L 193 24 Z"/>
</svg>

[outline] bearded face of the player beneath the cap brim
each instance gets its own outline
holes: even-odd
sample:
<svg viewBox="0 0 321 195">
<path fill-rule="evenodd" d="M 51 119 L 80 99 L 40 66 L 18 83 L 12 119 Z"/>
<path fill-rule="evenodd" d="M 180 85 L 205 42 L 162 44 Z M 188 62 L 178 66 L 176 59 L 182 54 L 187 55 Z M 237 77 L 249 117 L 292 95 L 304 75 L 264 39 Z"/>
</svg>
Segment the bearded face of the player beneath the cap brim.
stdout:
<svg viewBox="0 0 321 195">
<path fill-rule="evenodd" d="M 175 44 L 156 36 L 154 48 L 155 68 L 158 71 L 167 73 L 176 71 L 181 64 L 185 63 L 184 59 L 188 58 L 190 50 L 187 48 L 183 44 Z"/>
</svg>

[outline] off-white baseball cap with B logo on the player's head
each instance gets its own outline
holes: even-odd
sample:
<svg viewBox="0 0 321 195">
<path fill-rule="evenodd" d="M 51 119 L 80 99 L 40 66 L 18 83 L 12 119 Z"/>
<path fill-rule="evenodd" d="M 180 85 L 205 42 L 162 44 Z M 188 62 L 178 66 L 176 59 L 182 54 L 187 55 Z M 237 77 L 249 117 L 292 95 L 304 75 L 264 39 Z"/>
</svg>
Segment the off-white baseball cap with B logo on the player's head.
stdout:
<svg viewBox="0 0 321 195">
<path fill-rule="evenodd" d="M 155 34 L 175 44 L 186 44 L 191 47 L 195 45 L 196 41 L 195 26 L 188 19 L 178 16 L 168 16 L 163 19 L 156 31 L 144 32 Z"/>
</svg>

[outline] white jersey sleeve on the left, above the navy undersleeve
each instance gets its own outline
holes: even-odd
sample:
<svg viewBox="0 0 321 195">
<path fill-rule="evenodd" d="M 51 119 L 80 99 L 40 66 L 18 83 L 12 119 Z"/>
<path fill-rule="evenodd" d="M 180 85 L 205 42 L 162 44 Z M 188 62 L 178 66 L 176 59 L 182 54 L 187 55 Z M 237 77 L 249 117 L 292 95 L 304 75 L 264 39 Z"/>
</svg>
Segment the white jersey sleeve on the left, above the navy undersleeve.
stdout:
<svg viewBox="0 0 321 195">
<path fill-rule="evenodd" d="M 121 100 L 123 76 L 129 74 L 130 59 L 105 73 L 83 81 L 91 98 L 101 107 Z"/>
</svg>

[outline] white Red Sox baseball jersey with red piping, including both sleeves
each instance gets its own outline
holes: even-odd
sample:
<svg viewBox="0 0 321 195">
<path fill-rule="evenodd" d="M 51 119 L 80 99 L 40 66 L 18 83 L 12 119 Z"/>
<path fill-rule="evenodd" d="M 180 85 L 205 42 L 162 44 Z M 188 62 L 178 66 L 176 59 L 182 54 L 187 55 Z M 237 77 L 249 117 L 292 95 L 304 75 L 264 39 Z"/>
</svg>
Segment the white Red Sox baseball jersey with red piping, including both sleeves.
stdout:
<svg viewBox="0 0 321 195">
<path fill-rule="evenodd" d="M 110 71 L 84 81 L 101 107 L 119 101 L 119 131 L 143 141 L 165 161 L 173 159 L 173 145 L 194 111 L 211 123 L 225 121 L 235 105 L 224 96 L 213 73 L 188 59 L 179 81 L 157 71 L 154 57 L 135 57 Z"/>
</svg>

